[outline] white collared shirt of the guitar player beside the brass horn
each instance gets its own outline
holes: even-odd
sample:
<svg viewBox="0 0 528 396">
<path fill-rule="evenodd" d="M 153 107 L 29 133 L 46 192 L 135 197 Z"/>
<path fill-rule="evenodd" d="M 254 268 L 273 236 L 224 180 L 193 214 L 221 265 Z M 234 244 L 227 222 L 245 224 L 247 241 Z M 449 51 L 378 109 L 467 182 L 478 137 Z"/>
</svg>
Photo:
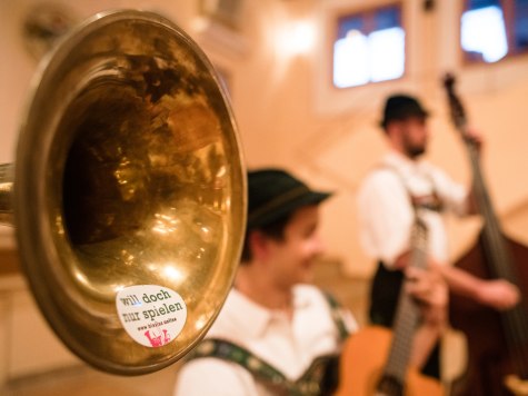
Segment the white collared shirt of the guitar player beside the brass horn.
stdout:
<svg viewBox="0 0 528 396">
<path fill-rule="evenodd" d="M 349 331 L 357 330 L 350 313 L 343 315 Z M 337 353 L 339 331 L 330 307 L 319 289 L 309 285 L 293 288 L 293 317 L 267 309 L 231 290 L 206 338 L 230 340 L 266 360 L 287 378 L 298 379 L 312 360 Z M 271 395 L 236 363 L 213 357 L 196 358 L 179 373 L 178 396 Z"/>
</svg>

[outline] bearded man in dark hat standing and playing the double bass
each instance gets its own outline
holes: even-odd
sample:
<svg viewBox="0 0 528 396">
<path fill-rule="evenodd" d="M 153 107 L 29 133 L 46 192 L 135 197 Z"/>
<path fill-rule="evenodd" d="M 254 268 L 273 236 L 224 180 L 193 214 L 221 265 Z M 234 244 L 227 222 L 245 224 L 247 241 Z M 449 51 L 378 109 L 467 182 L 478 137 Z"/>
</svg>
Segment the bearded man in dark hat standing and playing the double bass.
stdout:
<svg viewBox="0 0 528 396">
<path fill-rule="evenodd" d="M 387 98 L 380 126 L 389 152 L 367 175 L 358 192 L 360 238 L 366 253 L 378 261 L 370 295 L 370 320 L 391 327 L 404 271 L 412 259 L 411 230 L 419 218 L 427 228 L 427 265 L 438 271 L 452 293 L 497 309 L 518 300 L 518 290 L 502 280 L 484 280 L 448 264 L 442 214 L 475 212 L 472 194 L 422 158 L 429 130 L 429 111 L 414 96 Z M 470 131 L 476 147 L 480 136 Z M 440 336 L 440 335 L 438 335 Z M 436 343 L 436 341 L 435 341 Z M 435 343 L 426 343 L 427 348 Z M 429 350 L 422 350 L 429 355 Z M 425 363 L 424 374 L 440 376 L 438 344 Z"/>
</svg>

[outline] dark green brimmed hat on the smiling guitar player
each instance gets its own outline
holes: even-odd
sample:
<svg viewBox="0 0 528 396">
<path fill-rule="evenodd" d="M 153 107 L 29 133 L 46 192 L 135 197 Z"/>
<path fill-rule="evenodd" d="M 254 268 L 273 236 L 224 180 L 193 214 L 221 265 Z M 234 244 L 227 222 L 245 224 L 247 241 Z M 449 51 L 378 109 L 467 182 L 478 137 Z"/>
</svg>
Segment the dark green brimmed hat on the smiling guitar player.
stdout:
<svg viewBox="0 0 528 396">
<path fill-rule="evenodd" d="M 331 192 L 311 190 L 281 169 L 248 171 L 248 229 L 265 227 L 295 210 L 317 205 Z"/>
</svg>

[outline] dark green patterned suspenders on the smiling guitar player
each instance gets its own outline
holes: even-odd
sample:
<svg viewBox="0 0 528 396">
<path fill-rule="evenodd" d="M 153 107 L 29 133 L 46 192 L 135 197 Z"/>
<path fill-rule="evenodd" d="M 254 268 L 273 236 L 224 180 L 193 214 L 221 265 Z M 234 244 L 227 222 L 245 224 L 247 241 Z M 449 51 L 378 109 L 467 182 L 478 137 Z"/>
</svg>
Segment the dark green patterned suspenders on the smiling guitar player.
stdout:
<svg viewBox="0 0 528 396">
<path fill-rule="evenodd" d="M 339 313 L 340 306 L 330 294 L 325 293 L 325 297 L 342 341 L 349 336 L 349 333 Z M 273 390 L 273 394 L 288 396 L 325 395 L 325 383 L 327 375 L 330 375 L 328 369 L 335 368 L 339 359 L 338 355 L 320 356 L 312 362 L 299 379 L 292 382 L 279 369 L 248 349 L 226 339 L 205 339 L 192 350 L 188 359 L 200 357 L 216 357 L 238 364 L 247 369 L 257 382 Z"/>
</svg>

